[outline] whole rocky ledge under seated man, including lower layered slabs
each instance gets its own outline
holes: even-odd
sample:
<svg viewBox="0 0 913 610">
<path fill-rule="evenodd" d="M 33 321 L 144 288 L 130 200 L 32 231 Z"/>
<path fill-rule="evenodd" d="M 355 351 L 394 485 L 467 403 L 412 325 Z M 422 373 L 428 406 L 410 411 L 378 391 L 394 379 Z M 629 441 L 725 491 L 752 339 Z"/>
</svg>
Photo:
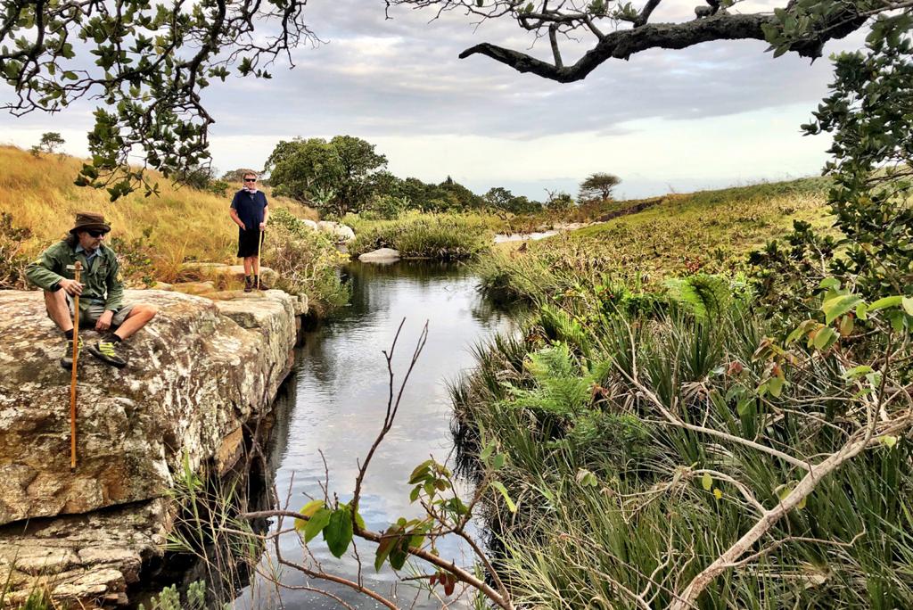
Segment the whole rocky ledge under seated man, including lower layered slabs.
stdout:
<svg viewBox="0 0 913 610">
<path fill-rule="evenodd" d="M 8 602 L 40 586 L 80 605 L 126 603 L 127 585 L 163 553 L 173 473 L 184 464 L 232 467 L 243 426 L 268 412 L 291 369 L 307 306 L 279 290 L 213 297 L 127 291 L 159 314 L 124 343 L 126 368 L 80 356 L 71 472 L 64 342 L 39 291 L 0 291 L 0 583 L 10 584 Z"/>
</svg>

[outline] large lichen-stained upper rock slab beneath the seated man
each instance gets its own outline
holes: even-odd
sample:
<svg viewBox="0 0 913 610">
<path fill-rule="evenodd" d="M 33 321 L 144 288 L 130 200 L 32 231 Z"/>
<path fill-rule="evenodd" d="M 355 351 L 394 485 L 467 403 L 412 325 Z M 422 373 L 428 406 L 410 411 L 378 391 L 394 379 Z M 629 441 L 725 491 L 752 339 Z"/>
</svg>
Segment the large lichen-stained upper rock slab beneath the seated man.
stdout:
<svg viewBox="0 0 913 610">
<path fill-rule="evenodd" d="M 127 299 L 160 312 L 125 342 L 126 368 L 80 356 L 70 472 L 64 342 L 39 291 L 0 291 L 0 524 L 161 497 L 184 459 L 196 469 L 213 458 L 289 373 L 294 297 L 269 291 L 236 305 L 128 290 Z"/>
</svg>

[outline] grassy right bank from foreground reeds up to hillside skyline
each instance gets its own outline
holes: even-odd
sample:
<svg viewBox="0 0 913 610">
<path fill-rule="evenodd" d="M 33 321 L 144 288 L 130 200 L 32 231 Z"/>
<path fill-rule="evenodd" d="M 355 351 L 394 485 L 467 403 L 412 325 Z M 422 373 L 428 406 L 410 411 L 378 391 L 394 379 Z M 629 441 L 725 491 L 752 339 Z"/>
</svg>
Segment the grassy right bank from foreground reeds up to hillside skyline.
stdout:
<svg viewBox="0 0 913 610">
<path fill-rule="evenodd" d="M 815 463 L 871 413 L 876 390 L 846 370 L 872 364 L 908 393 L 908 352 L 885 356 L 902 331 L 784 345 L 753 309 L 747 253 L 793 220 L 831 226 L 826 187 L 672 195 L 478 263 L 489 293 L 538 306 L 521 335 L 479 346 L 477 369 L 452 388 L 463 463 L 490 444 L 507 458 L 498 479 L 518 510 L 492 501 L 488 522 L 520 607 L 667 607 L 758 521 L 755 500 L 771 510 L 803 477 L 739 439 Z M 790 328 L 804 317 L 793 312 Z M 696 607 L 913 607 L 911 455 L 898 438 L 831 473 Z"/>
</svg>

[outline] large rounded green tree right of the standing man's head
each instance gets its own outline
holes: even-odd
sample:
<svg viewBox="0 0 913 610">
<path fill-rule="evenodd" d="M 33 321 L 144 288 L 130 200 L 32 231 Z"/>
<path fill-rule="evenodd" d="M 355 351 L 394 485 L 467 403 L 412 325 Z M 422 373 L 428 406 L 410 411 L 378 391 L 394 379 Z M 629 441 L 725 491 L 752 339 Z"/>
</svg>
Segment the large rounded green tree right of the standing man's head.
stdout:
<svg viewBox="0 0 913 610">
<path fill-rule="evenodd" d="M 278 142 L 266 163 L 277 195 L 316 205 L 322 212 L 344 216 L 367 205 L 378 175 L 387 163 L 374 145 L 349 135 Z"/>
</svg>

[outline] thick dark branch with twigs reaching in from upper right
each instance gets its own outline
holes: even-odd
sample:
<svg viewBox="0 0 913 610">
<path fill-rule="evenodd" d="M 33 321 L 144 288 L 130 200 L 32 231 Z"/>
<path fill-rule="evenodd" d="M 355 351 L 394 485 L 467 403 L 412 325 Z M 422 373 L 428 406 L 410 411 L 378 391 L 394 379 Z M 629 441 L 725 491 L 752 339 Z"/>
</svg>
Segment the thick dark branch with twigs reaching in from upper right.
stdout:
<svg viewBox="0 0 913 610">
<path fill-rule="evenodd" d="M 532 72 L 542 78 L 572 82 L 587 77 L 593 69 L 610 59 L 630 59 L 654 48 L 679 49 L 721 40 L 768 40 L 776 32 L 795 30 L 807 17 L 802 37 L 792 37 L 783 46 L 774 47 L 774 55 L 787 51 L 803 58 L 819 58 L 824 43 L 843 38 L 866 24 L 871 16 L 892 10 L 913 10 L 910 0 L 782 0 L 773 12 L 754 14 L 729 13 L 734 0 L 706 0 L 695 8 L 695 18 L 678 23 L 651 23 L 650 18 L 661 0 L 590 0 L 551 3 L 549 0 L 386 0 L 387 6 L 430 7 L 440 15 L 462 10 L 476 22 L 508 18 L 535 37 L 548 37 L 552 60 L 542 61 L 528 53 L 487 42 L 469 47 L 460 58 L 484 55 L 519 72 Z M 770 10 L 770 9 L 768 9 Z M 603 26 L 614 27 L 603 32 Z M 561 41 L 578 41 L 590 37 L 593 47 L 571 66 L 561 58 Z"/>
</svg>

